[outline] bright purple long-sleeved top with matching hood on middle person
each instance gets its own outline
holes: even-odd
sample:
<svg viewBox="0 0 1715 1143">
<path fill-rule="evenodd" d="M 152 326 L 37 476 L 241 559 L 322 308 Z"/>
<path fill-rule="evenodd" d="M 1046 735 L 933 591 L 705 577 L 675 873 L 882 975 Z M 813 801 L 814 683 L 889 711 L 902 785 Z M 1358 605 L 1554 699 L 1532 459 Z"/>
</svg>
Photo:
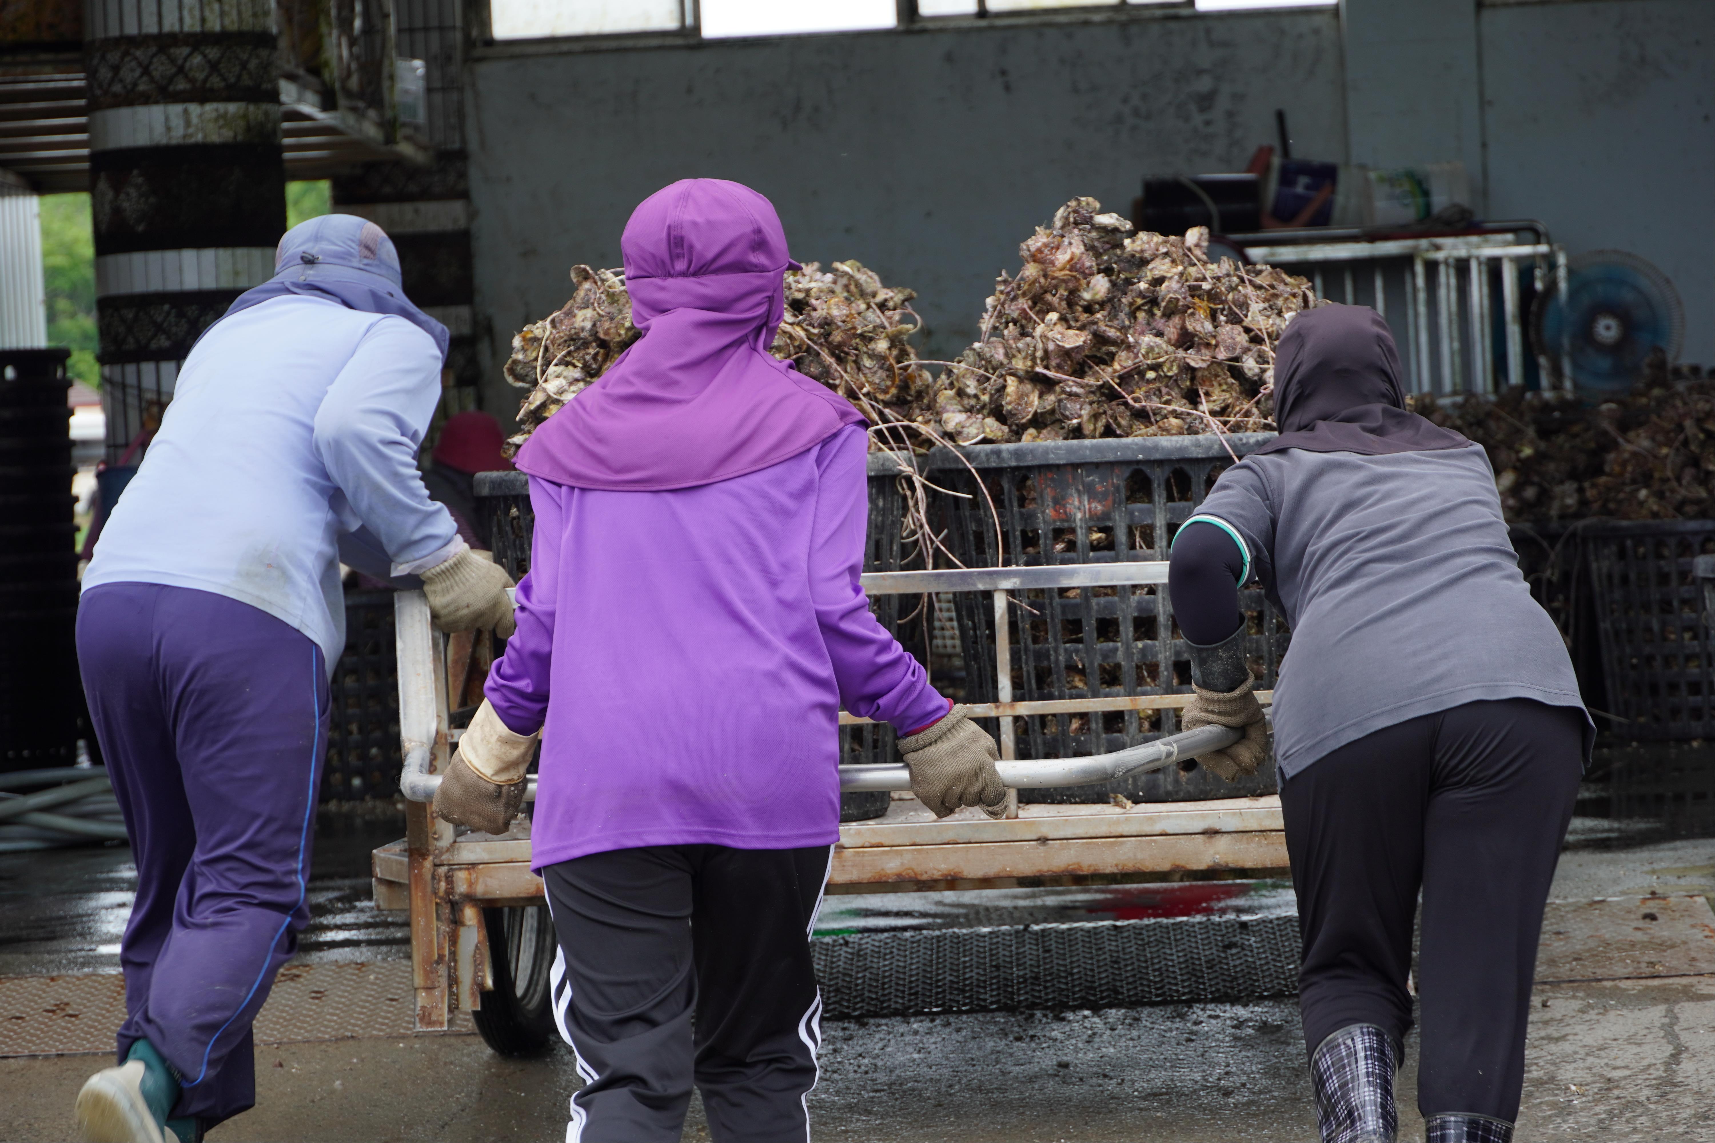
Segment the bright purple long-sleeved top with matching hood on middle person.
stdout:
<svg viewBox="0 0 1715 1143">
<path fill-rule="evenodd" d="M 544 732 L 532 867 L 828 845 L 840 706 L 900 733 L 948 709 L 858 583 L 861 418 L 763 353 L 789 266 L 767 199 L 676 183 L 623 250 L 643 339 L 518 458 L 532 566 L 487 697 Z"/>
</svg>

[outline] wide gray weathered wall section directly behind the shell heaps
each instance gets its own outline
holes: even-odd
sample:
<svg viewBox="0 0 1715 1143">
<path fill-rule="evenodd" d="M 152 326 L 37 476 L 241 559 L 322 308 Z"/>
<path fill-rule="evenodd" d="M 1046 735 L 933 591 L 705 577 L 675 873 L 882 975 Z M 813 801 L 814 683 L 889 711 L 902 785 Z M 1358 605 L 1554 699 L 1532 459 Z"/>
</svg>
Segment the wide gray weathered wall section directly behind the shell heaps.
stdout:
<svg viewBox="0 0 1715 1143">
<path fill-rule="evenodd" d="M 676 178 L 749 183 L 799 259 L 912 286 L 947 355 L 1072 195 L 1125 212 L 1146 173 L 1242 168 L 1274 108 L 1297 154 L 1346 158 L 1334 9 L 490 57 L 468 91 L 499 351 L 564 302 L 573 262 L 616 266 L 631 207 Z M 516 401 L 490 384 L 489 408 Z"/>
</svg>

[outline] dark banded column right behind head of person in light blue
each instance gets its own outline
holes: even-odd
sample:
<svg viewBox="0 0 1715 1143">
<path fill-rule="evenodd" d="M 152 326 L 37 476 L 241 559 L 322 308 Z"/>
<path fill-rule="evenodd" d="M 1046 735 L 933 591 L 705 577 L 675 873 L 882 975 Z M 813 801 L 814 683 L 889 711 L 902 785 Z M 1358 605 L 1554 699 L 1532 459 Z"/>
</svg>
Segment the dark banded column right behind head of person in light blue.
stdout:
<svg viewBox="0 0 1715 1143">
<path fill-rule="evenodd" d="M 372 163 L 333 180 L 333 209 L 360 214 L 393 238 L 405 293 L 451 334 L 442 415 L 480 406 L 482 365 L 470 255 L 465 161 L 463 33 L 458 0 L 394 0 L 398 51 L 422 60 L 434 165 Z M 502 416 L 504 420 L 504 416 Z"/>
</svg>

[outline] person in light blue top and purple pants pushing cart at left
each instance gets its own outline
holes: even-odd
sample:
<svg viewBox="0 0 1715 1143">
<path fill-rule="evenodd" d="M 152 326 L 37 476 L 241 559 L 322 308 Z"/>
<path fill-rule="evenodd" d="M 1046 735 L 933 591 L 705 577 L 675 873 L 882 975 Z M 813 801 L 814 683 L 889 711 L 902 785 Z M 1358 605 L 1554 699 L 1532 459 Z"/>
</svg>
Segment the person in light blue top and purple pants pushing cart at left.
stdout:
<svg viewBox="0 0 1715 1143">
<path fill-rule="evenodd" d="M 393 243 L 329 214 L 274 271 L 185 358 L 84 572 L 77 658 L 137 864 L 86 1140 L 202 1138 L 256 1102 L 250 1021 L 309 922 L 340 562 L 420 581 L 444 631 L 511 631 L 511 581 L 417 471 L 448 334 Z"/>
</svg>

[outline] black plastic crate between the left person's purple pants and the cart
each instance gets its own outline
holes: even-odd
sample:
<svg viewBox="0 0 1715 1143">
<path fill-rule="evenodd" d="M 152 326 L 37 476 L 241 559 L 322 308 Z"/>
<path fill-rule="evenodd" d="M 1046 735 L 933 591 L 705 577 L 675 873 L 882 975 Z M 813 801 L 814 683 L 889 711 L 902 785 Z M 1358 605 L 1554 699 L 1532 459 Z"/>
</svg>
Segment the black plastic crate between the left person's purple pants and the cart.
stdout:
<svg viewBox="0 0 1715 1143">
<path fill-rule="evenodd" d="M 393 593 L 345 595 L 345 653 L 328 687 L 322 802 L 391 799 L 400 792 L 400 660 Z"/>
</svg>

